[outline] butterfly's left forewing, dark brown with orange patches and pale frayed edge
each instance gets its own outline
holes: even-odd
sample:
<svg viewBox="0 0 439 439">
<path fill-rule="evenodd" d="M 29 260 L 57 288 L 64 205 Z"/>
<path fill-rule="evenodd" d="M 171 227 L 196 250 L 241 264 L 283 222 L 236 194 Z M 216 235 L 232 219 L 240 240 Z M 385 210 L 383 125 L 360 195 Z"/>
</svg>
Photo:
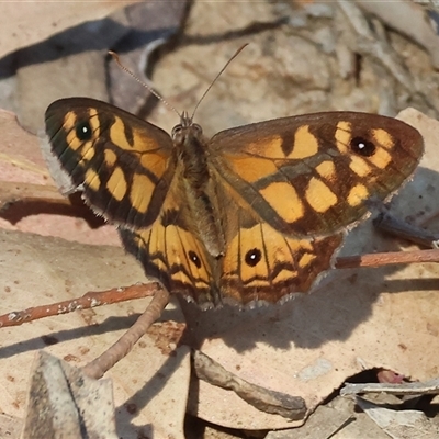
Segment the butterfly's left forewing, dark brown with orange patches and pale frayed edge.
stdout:
<svg viewBox="0 0 439 439">
<path fill-rule="evenodd" d="M 176 166 L 166 132 L 104 102 L 72 98 L 50 104 L 46 133 L 98 213 L 125 227 L 154 223 Z"/>
</svg>

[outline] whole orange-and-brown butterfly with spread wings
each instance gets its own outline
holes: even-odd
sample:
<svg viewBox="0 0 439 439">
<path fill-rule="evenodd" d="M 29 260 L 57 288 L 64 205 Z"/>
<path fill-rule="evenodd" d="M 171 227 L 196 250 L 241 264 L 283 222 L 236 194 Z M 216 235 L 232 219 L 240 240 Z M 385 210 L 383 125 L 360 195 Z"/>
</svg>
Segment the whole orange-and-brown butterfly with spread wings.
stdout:
<svg viewBox="0 0 439 439">
<path fill-rule="evenodd" d="M 147 277 L 202 307 L 308 291 L 346 227 L 413 175 L 424 148 L 404 122 L 354 112 L 275 119 L 211 139 L 185 112 L 169 135 L 87 98 L 58 100 L 45 117 L 58 184 L 117 226 Z"/>
</svg>

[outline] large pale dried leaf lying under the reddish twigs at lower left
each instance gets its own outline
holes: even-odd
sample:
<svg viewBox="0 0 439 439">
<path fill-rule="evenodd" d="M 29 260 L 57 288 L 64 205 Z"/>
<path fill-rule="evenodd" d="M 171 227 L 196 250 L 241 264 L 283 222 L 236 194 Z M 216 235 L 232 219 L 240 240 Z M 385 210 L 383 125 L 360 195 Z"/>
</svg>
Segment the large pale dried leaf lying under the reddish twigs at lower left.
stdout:
<svg viewBox="0 0 439 439">
<path fill-rule="evenodd" d="M 142 267 L 110 246 L 86 246 L 59 238 L 0 229 L 1 314 L 88 291 L 144 280 Z M 48 317 L 20 327 L 0 328 L 0 409 L 23 418 L 34 352 L 44 349 L 80 367 L 110 347 L 143 313 L 149 300 L 101 306 Z M 167 308 L 164 319 L 179 318 Z M 180 317 L 181 318 L 181 317 Z M 111 378 L 122 437 L 183 437 L 189 386 L 189 349 L 176 348 L 183 327 L 154 325 Z"/>
</svg>

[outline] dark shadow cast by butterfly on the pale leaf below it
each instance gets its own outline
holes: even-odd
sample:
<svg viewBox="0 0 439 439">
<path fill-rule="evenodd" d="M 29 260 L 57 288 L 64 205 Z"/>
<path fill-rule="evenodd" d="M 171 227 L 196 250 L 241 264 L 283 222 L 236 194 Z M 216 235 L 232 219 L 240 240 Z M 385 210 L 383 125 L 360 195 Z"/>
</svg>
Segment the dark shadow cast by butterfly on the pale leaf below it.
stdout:
<svg viewBox="0 0 439 439">
<path fill-rule="evenodd" d="M 385 281 L 392 272 L 390 268 L 346 270 L 316 291 L 297 294 L 281 305 L 244 311 L 227 306 L 210 312 L 192 307 L 187 314 L 196 326 L 200 345 L 221 338 L 237 352 L 252 350 L 261 342 L 279 349 L 289 349 L 292 344 L 316 349 L 328 341 L 348 339 L 371 317 L 383 288 L 392 293 L 437 288 L 436 279 Z"/>
</svg>

